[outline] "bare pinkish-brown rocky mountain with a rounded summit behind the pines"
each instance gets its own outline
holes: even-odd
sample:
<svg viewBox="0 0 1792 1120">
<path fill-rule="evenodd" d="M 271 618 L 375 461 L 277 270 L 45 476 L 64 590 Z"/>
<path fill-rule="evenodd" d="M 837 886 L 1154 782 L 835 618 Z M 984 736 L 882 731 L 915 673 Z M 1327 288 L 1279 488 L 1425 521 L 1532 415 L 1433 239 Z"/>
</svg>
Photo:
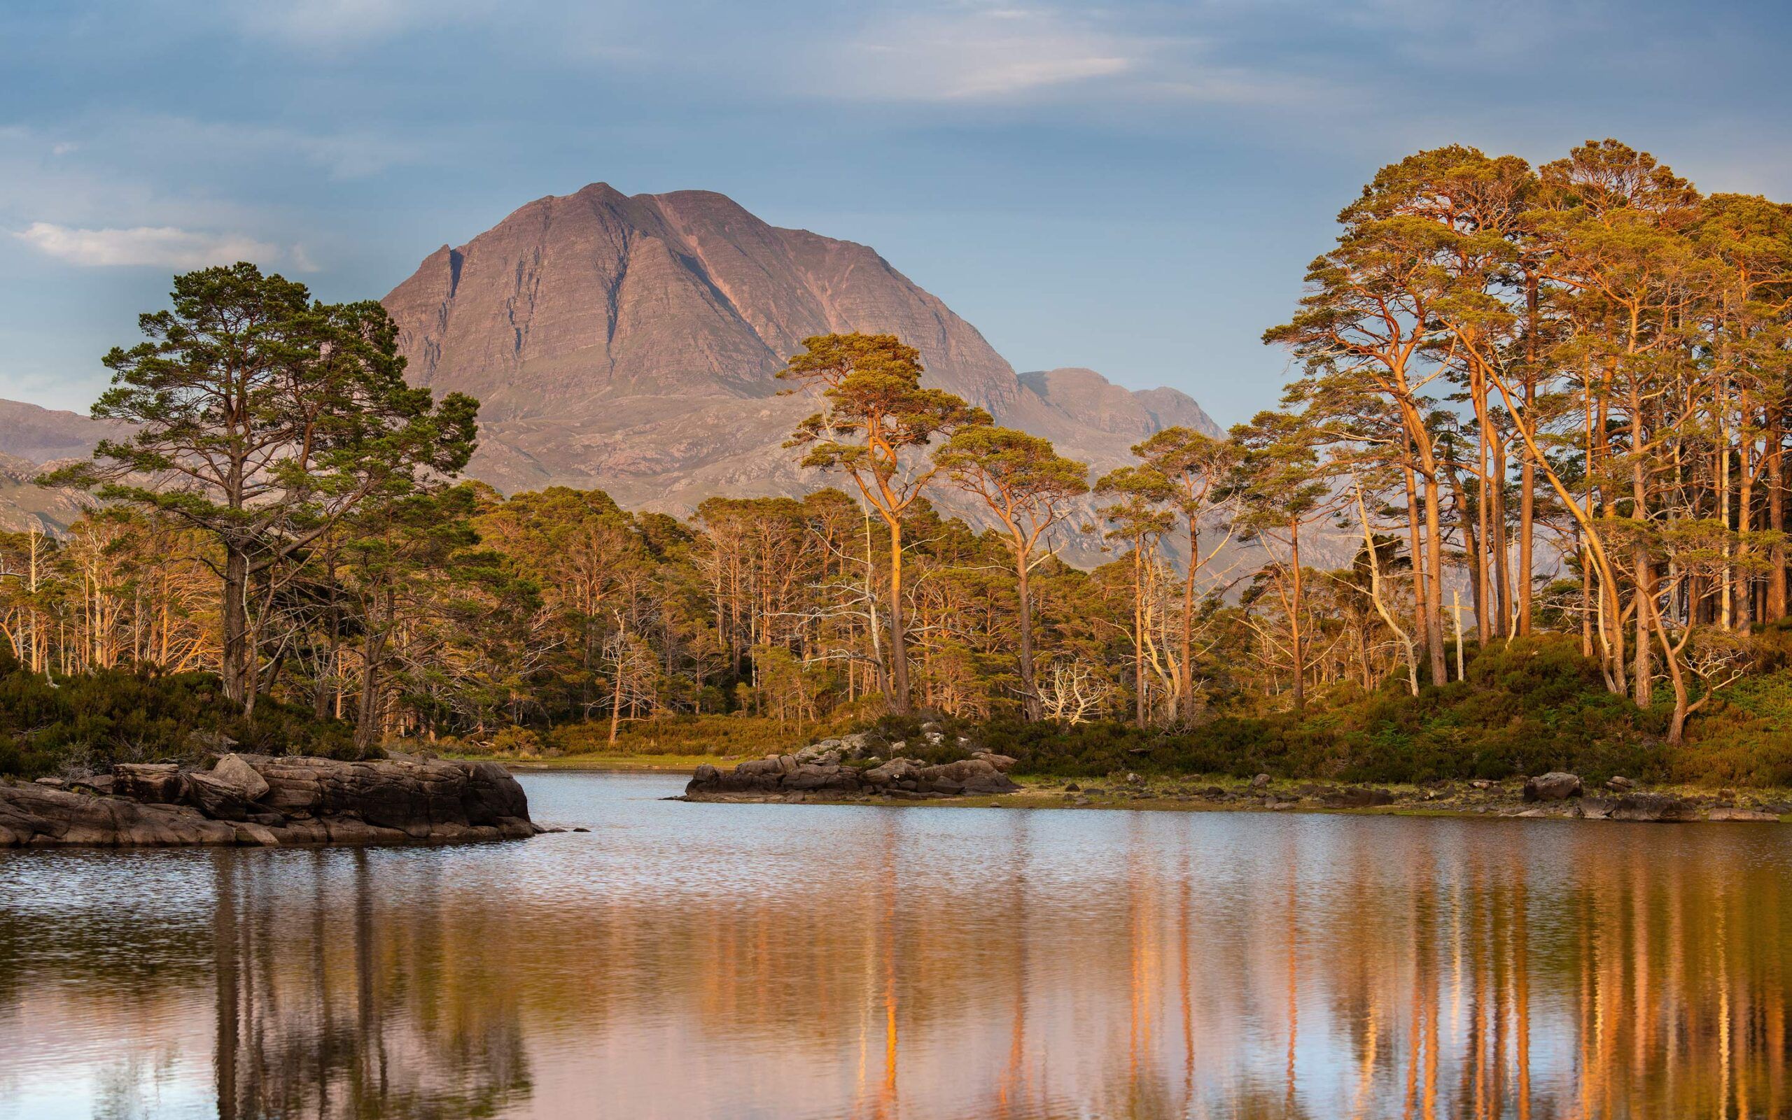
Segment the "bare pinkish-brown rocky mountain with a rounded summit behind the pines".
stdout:
<svg viewBox="0 0 1792 1120">
<path fill-rule="evenodd" d="M 686 513 L 713 493 L 821 486 L 781 448 L 817 409 L 776 380 L 808 335 L 894 333 L 925 382 L 1097 468 L 1172 423 L 1217 430 L 1174 389 L 1088 369 L 1016 376 L 969 323 L 876 251 L 780 229 L 699 190 L 545 197 L 385 297 L 410 376 L 480 400 L 471 473 L 500 489 L 602 487 Z"/>
</svg>

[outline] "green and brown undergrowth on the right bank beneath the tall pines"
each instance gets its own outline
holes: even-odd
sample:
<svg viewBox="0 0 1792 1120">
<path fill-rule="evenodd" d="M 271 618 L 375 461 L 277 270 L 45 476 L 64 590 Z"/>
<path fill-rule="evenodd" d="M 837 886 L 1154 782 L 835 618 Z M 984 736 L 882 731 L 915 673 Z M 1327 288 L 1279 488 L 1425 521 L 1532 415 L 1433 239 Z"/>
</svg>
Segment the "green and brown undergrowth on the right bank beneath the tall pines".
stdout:
<svg viewBox="0 0 1792 1120">
<path fill-rule="evenodd" d="M 1570 771 L 1688 785 L 1792 785 L 1792 668 L 1774 661 L 1693 717 L 1686 742 L 1665 742 L 1670 695 L 1638 710 L 1606 690 L 1598 667 L 1563 636 L 1491 643 L 1466 681 L 1409 695 L 1391 681 L 1376 692 L 1315 695 L 1305 715 L 1222 713 L 1195 728 L 1122 722 L 955 724 L 978 745 L 1020 760 L 1016 772 L 1057 778 L 1142 774 L 1271 774 L 1335 781 L 1425 783 L 1502 780 Z M 909 731 L 907 726 L 891 728 Z M 912 740 L 910 740 L 912 742 Z"/>
</svg>

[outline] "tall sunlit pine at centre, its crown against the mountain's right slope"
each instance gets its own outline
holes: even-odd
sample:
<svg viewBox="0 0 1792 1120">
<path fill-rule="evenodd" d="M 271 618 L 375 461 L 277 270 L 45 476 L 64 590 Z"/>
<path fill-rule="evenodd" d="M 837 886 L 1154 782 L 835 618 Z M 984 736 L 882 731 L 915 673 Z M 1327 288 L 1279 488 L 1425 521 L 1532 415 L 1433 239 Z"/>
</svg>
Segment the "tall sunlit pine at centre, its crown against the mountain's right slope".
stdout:
<svg viewBox="0 0 1792 1120">
<path fill-rule="evenodd" d="M 939 471 L 916 455 L 935 435 L 987 425 L 989 414 L 943 389 L 921 387 L 921 351 L 896 335 L 815 335 L 778 376 L 823 385 L 826 412 L 785 443 L 808 448 L 801 466 L 842 471 L 891 538 L 891 710 L 909 713 L 909 642 L 903 625 L 903 514 Z"/>
</svg>

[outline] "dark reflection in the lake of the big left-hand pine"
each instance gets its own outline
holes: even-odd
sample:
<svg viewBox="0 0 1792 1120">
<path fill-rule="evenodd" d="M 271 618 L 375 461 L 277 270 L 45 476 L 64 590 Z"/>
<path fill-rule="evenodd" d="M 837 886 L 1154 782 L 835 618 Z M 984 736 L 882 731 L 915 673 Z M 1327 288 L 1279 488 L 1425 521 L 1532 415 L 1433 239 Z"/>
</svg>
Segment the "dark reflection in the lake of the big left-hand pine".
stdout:
<svg viewBox="0 0 1792 1120">
<path fill-rule="evenodd" d="M 376 916 L 369 853 L 297 855 L 308 898 L 265 860 L 213 864 L 219 1120 L 493 1116 L 527 1098 L 518 1007 L 459 986 L 430 869 L 403 914 Z"/>
</svg>

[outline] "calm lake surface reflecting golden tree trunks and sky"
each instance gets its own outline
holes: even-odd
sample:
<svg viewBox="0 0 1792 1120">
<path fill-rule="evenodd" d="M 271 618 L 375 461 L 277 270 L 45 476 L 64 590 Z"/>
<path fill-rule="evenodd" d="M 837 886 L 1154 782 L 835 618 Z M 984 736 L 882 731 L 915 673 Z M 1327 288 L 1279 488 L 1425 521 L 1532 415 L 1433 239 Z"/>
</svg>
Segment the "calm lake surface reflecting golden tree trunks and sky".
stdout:
<svg viewBox="0 0 1792 1120">
<path fill-rule="evenodd" d="M 0 855 L 0 1118 L 1783 1116 L 1792 831 L 659 801 Z"/>
</svg>

